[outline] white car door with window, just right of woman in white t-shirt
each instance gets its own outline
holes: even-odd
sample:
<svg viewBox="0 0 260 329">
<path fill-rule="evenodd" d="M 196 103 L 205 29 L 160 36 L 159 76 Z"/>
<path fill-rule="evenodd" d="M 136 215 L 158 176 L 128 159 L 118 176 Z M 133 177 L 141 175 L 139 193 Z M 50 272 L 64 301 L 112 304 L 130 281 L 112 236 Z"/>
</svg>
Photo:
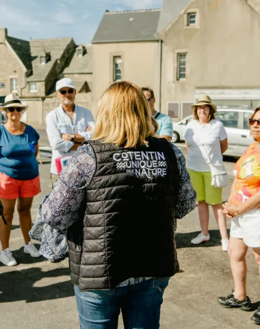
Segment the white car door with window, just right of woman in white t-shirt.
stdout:
<svg viewBox="0 0 260 329">
<path fill-rule="evenodd" d="M 218 110 L 215 114 L 215 118 L 220 120 L 226 130 L 228 136 L 228 149 L 225 151 L 226 156 L 239 156 L 239 135 L 237 134 L 238 130 L 238 112 L 234 110 L 222 111 Z"/>
</svg>

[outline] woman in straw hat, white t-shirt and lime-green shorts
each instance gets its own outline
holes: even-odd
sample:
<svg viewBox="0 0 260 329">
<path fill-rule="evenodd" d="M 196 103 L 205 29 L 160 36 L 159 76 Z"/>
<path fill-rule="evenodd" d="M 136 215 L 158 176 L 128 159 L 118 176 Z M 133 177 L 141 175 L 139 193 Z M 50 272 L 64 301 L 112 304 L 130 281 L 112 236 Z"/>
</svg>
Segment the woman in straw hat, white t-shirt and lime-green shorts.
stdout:
<svg viewBox="0 0 260 329">
<path fill-rule="evenodd" d="M 197 245 L 209 241 L 211 205 L 220 229 L 222 250 L 227 251 L 229 240 L 226 217 L 222 212 L 222 188 L 211 186 L 211 170 L 205 158 L 206 151 L 213 164 L 223 164 L 222 154 L 228 147 L 226 130 L 222 122 L 215 119 L 217 107 L 209 96 L 201 96 L 198 102 L 192 105 L 192 110 L 194 120 L 187 124 L 184 136 L 188 152 L 187 169 L 197 194 L 201 232 L 191 242 Z"/>
</svg>

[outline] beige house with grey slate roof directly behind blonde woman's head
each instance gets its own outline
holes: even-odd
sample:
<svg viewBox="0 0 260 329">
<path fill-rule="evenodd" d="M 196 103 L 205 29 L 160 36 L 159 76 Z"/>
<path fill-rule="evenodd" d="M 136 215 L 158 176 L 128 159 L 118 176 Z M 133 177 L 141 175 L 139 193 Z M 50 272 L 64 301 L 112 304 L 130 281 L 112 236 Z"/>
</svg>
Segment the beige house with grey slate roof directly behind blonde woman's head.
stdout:
<svg viewBox="0 0 260 329">
<path fill-rule="evenodd" d="M 159 14 L 160 10 L 138 10 L 103 15 L 92 40 L 94 114 L 102 93 L 116 81 L 149 86 L 155 97 L 159 95 L 161 43 L 155 38 Z"/>
</svg>

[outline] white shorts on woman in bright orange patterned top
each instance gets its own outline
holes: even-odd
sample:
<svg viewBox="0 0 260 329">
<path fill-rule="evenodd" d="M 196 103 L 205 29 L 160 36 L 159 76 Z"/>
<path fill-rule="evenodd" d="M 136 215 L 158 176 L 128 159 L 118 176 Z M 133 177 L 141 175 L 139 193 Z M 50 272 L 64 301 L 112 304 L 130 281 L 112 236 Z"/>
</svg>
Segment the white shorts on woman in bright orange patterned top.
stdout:
<svg viewBox="0 0 260 329">
<path fill-rule="evenodd" d="M 260 247 L 260 209 L 250 210 L 231 219 L 230 235 L 243 239 L 248 247 Z"/>
</svg>

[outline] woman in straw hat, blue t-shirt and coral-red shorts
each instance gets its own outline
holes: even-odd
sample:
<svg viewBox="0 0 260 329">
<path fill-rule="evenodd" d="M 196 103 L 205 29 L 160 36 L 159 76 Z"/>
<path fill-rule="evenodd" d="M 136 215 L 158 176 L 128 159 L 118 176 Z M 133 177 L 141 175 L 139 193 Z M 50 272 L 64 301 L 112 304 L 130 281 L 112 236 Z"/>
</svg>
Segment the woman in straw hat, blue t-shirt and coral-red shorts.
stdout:
<svg viewBox="0 0 260 329">
<path fill-rule="evenodd" d="M 0 200 L 6 223 L 0 221 L 0 241 L 2 251 L 0 262 L 7 266 L 16 265 L 9 249 L 9 239 L 17 202 L 17 211 L 23 238 L 24 252 L 39 257 L 40 252 L 31 243 L 31 204 L 34 196 L 40 193 L 38 162 L 39 134 L 30 125 L 21 122 L 26 106 L 16 94 L 5 97 L 5 115 L 7 122 L 0 125 Z"/>
</svg>

